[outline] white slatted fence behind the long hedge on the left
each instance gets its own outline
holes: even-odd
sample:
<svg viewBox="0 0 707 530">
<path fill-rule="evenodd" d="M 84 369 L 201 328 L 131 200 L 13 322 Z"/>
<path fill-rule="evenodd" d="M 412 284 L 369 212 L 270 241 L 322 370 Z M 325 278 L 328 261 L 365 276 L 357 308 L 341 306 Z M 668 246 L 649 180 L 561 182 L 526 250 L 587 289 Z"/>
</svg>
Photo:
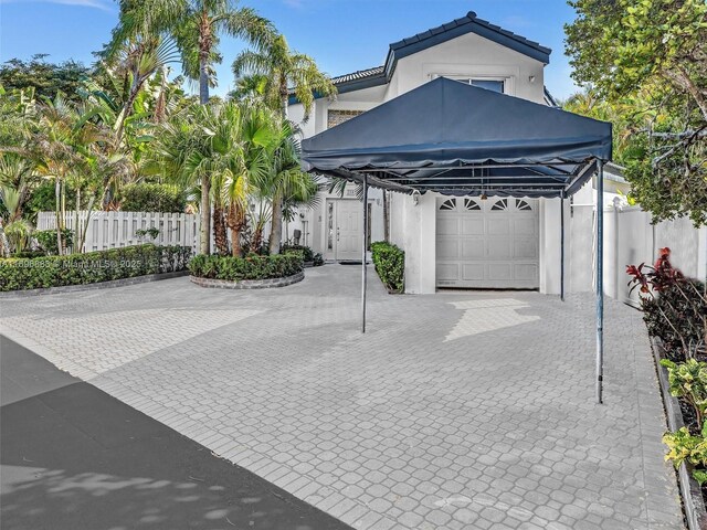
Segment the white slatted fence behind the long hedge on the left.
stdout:
<svg viewBox="0 0 707 530">
<path fill-rule="evenodd" d="M 78 223 L 83 227 L 88 212 L 78 212 Z M 75 231 L 76 213 L 66 212 L 65 226 Z M 54 212 L 40 212 L 36 221 L 38 230 L 56 227 Z M 138 230 L 157 229 L 155 240 L 149 235 L 140 237 Z M 84 252 L 103 251 L 120 246 L 155 243 L 156 245 L 190 246 L 196 252 L 199 242 L 199 218 L 191 213 L 160 212 L 91 212 Z M 78 250 L 74 250 L 77 252 Z"/>
</svg>

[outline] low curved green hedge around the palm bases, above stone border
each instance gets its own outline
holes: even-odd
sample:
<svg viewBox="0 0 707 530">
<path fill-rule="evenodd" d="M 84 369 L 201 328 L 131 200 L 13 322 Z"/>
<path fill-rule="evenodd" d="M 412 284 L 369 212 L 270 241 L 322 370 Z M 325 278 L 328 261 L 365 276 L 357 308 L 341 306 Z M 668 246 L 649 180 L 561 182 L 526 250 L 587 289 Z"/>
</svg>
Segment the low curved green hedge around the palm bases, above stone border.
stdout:
<svg viewBox="0 0 707 530">
<path fill-rule="evenodd" d="M 192 276 L 199 278 L 242 279 L 283 278 L 302 272 L 304 268 L 300 252 L 289 252 L 272 256 L 250 254 L 246 257 L 207 256 L 199 254 L 189 262 Z"/>
</svg>

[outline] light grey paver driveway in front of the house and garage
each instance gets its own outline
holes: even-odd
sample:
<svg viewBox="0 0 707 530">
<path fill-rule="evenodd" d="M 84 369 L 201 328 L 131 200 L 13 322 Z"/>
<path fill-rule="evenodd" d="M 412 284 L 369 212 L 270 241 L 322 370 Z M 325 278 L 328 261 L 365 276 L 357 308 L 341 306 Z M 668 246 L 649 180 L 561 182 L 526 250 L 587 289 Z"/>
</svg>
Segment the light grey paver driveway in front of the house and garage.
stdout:
<svg viewBox="0 0 707 530">
<path fill-rule="evenodd" d="M 682 528 L 640 315 L 536 293 L 388 296 L 359 268 L 283 289 L 178 278 L 3 299 L 2 330 L 361 529 Z"/>
</svg>

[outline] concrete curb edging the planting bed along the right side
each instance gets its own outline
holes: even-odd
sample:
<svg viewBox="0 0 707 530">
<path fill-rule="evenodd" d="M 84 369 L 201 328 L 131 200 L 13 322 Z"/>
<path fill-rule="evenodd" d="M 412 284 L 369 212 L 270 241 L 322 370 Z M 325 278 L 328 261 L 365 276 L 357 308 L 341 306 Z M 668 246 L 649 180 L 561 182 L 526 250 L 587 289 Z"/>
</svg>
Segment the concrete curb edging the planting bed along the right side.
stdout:
<svg viewBox="0 0 707 530">
<path fill-rule="evenodd" d="M 661 365 L 661 359 L 664 358 L 665 350 L 659 339 L 651 338 L 651 349 L 655 359 L 655 369 L 658 373 L 658 382 L 661 383 L 661 395 L 665 405 L 665 415 L 667 417 L 667 426 L 672 432 L 676 432 L 685 426 L 683 413 L 677 398 L 671 395 L 667 368 Z M 680 497 L 683 498 L 683 510 L 687 520 L 689 530 L 700 530 L 707 528 L 707 509 L 699 485 L 687 470 L 685 463 L 677 468 L 677 481 L 680 488 Z"/>
</svg>

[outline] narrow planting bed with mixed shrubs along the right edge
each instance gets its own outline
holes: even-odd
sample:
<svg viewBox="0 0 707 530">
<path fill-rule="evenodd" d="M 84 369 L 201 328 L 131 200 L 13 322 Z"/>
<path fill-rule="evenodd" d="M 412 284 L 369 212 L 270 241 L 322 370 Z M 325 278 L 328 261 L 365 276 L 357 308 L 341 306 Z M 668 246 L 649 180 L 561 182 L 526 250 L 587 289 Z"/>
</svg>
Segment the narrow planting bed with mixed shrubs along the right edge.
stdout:
<svg viewBox="0 0 707 530">
<path fill-rule="evenodd" d="M 627 267 L 641 292 L 668 432 L 663 443 L 678 474 L 690 530 L 707 528 L 707 292 L 673 268 L 669 248 L 654 266 Z"/>
</svg>

